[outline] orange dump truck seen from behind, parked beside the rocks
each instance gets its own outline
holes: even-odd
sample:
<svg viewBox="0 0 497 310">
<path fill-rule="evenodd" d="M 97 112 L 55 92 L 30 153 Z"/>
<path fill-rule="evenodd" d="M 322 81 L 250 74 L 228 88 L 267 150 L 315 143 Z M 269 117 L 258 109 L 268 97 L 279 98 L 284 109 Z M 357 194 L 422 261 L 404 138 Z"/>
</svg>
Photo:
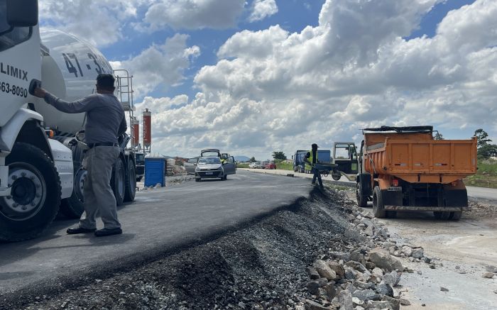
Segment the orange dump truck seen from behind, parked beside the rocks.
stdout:
<svg viewBox="0 0 497 310">
<path fill-rule="evenodd" d="M 359 206 L 378 218 L 433 211 L 459 220 L 469 210 L 462 179 L 476 173 L 476 138 L 435 140 L 432 126 L 366 128 L 359 153 Z"/>
</svg>

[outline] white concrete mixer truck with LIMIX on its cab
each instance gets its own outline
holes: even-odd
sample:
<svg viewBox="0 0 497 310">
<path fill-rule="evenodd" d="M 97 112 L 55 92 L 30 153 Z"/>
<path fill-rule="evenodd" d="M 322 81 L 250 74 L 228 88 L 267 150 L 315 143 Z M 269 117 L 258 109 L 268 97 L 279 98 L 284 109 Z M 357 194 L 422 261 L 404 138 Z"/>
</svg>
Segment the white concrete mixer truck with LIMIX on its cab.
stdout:
<svg viewBox="0 0 497 310">
<path fill-rule="evenodd" d="M 74 218 L 82 214 L 86 171 L 76 134 L 85 115 L 62 113 L 28 89 L 38 79 L 49 92 L 73 101 L 96 91 L 99 73 L 113 70 L 97 49 L 61 31 L 40 31 L 38 1 L 0 0 L 0 241 L 38 236 L 59 209 Z M 121 156 L 111 178 L 118 204 L 135 196 L 128 140 L 119 137 Z"/>
</svg>

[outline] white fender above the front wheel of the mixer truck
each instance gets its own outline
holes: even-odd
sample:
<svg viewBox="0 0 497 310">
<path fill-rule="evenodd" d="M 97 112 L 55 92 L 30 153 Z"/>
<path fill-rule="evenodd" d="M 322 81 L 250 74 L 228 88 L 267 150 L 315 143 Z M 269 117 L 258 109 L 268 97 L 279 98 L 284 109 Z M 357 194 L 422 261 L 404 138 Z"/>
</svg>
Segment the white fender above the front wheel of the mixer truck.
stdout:
<svg viewBox="0 0 497 310">
<path fill-rule="evenodd" d="M 0 150 L 11 152 L 13 145 L 14 143 L 16 143 L 18 136 L 20 134 L 23 135 L 23 127 L 30 120 L 34 120 L 38 123 L 38 121 L 43 121 L 43 116 L 36 113 L 35 111 L 31 111 L 28 109 L 19 109 L 16 112 L 16 114 L 13 115 L 11 120 L 0 129 Z M 44 135 L 43 131 L 41 131 L 41 133 Z M 26 138 L 28 138 L 28 135 L 33 135 L 33 132 L 26 133 Z M 38 140 L 37 137 L 35 140 Z M 23 141 L 23 142 L 34 144 L 38 146 L 38 148 L 42 149 L 47 155 L 51 156 L 50 149 L 48 148 L 48 143 L 46 142 L 46 137 L 44 140 L 45 141 L 43 142 L 43 144 L 45 146 L 44 147 L 42 146 L 41 148 L 40 145 L 38 145 L 40 141 L 38 141 L 38 143 L 31 143 L 31 141 Z"/>
</svg>

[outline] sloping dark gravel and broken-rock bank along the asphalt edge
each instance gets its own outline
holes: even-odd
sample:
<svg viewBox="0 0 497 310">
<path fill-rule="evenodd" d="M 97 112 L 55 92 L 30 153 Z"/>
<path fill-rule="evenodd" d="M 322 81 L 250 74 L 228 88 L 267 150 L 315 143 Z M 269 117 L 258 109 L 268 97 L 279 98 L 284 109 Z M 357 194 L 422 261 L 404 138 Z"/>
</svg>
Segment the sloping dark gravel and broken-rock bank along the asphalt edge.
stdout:
<svg viewBox="0 0 497 310">
<path fill-rule="evenodd" d="M 65 292 L 0 300 L 0 309 L 399 309 L 398 245 L 344 191 L 315 192 L 217 240 Z M 430 263 L 432 263 L 430 261 Z"/>
</svg>

